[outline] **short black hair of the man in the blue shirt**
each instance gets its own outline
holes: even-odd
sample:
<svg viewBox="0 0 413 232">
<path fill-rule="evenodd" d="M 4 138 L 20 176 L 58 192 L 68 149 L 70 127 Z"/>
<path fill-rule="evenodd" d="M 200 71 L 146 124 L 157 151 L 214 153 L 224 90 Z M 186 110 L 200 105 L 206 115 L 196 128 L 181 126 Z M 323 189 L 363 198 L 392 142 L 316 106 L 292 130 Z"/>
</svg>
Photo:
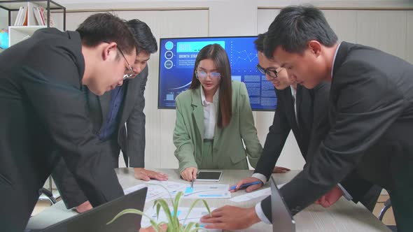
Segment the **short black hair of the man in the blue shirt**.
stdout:
<svg viewBox="0 0 413 232">
<path fill-rule="evenodd" d="M 137 54 L 142 50 L 149 52 L 150 54 L 158 51 L 156 38 L 153 36 L 148 24 L 135 19 L 127 21 L 127 25 L 132 29 L 135 39 L 137 40 Z"/>
</svg>

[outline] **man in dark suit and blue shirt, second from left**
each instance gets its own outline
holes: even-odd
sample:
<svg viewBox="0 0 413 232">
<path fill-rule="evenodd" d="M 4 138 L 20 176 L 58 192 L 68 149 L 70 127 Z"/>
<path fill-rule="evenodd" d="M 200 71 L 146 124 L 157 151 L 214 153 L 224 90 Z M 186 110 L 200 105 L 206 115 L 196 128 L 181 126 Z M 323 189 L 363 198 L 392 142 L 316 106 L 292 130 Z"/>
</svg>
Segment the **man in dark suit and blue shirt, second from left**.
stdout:
<svg viewBox="0 0 413 232">
<path fill-rule="evenodd" d="M 130 163 L 130 166 L 134 167 L 134 174 L 137 179 L 167 180 L 168 176 L 166 174 L 144 168 L 144 92 L 148 80 L 147 62 L 151 58 L 151 54 L 158 50 L 158 45 L 151 29 L 145 22 L 130 20 L 127 24 L 134 32 L 137 40 L 137 59 L 132 68 L 138 75 L 102 96 L 96 96 L 85 89 L 89 117 L 93 124 L 94 133 L 101 140 L 102 150 L 107 150 L 107 153 L 111 154 L 113 168 L 118 168 L 118 158 L 120 150 L 122 150 L 126 166 Z M 63 160 L 59 161 L 52 177 L 62 195 L 66 208 L 76 207 L 78 212 L 85 212 L 92 208 Z"/>
</svg>

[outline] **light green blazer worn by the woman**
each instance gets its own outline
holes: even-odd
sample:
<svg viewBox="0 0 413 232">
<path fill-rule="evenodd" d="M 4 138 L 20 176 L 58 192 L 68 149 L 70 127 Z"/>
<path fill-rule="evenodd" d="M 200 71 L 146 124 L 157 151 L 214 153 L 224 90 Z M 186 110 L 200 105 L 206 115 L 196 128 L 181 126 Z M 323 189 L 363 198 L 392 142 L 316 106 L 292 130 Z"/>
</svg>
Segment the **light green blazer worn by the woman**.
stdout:
<svg viewBox="0 0 413 232">
<path fill-rule="evenodd" d="M 175 156 L 179 173 L 196 167 L 196 156 L 202 155 L 204 142 L 204 108 L 201 90 L 188 89 L 176 96 L 176 124 L 174 129 Z M 246 145 L 244 145 L 242 141 Z M 218 169 L 248 169 L 246 157 L 255 168 L 262 146 L 254 126 L 253 113 L 244 83 L 232 81 L 232 117 L 228 126 L 215 128 L 213 156 Z M 215 160 L 214 160 L 215 163 Z"/>
</svg>

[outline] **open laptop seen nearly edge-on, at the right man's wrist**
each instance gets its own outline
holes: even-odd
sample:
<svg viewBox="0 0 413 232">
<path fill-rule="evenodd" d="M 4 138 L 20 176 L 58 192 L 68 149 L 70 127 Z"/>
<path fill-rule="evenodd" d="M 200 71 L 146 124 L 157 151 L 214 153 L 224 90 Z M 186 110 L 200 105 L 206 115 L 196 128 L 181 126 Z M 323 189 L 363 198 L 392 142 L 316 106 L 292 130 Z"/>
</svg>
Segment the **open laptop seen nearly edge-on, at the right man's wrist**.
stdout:
<svg viewBox="0 0 413 232">
<path fill-rule="evenodd" d="M 273 232 L 295 232 L 295 221 L 276 187 L 274 177 L 271 177 L 271 209 Z"/>
</svg>

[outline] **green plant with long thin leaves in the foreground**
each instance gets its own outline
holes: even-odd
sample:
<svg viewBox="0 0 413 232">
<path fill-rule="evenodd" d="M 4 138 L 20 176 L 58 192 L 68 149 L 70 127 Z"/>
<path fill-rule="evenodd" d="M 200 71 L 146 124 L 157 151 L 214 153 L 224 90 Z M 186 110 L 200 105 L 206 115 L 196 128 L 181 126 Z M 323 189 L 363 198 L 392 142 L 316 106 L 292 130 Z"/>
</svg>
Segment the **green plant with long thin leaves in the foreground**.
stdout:
<svg viewBox="0 0 413 232">
<path fill-rule="evenodd" d="M 162 185 L 161 185 L 162 186 Z M 163 186 L 162 186 L 163 187 Z M 168 191 L 165 187 L 163 187 L 166 191 Z M 169 191 L 168 191 L 169 194 Z M 148 215 L 145 215 L 144 212 L 142 212 L 141 210 L 137 210 L 137 209 L 126 209 L 123 210 L 121 212 L 118 213 L 118 215 L 116 215 L 115 217 L 113 217 L 113 219 L 108 222 L 107 224 L 111 224 L 112 222 L 114 222 L 116 219 L 118 219 L 119 217 L 122 217 L 122 215 L 125 214 L 137 214 L 137 215 L 142 215 L 144 217 L 148 217 L 148 219 L 150 219 L 151 225 L 153 226 L 153 229 L 157 232 L 165 232 L 162 228 L 161 225 L 165 224 L 167 225 L 167 232 L 192 232 L 192 231 L 198 231 L 199 229 L 203 229 L 202 226 L 200 226 L 200 224 L 198 224 L 197 222 L 190 222 L 188 224 L 186 224 L 186 219 L 188 219 L 188 216 L 191 212 L 191 210 L 193 210 L 193 208 L 195 207 L 195 205 L 199 202 L 202 201 L 205 205 L 205 208 L 207 208 L 208 213 L 211 214 L 211 210 L 209 209 L 208 203 L 205 200 L 201 200 L 201 199 L 197 199 L 196 201 L 194 201 L 191 205 L 190 205 L 190 209 L 188 211 L 188 214 L 186 215 L 183 223 L 181 224 L 179 222 L 179 218 L 178 218 L 178 207 L 179 207 L 179 203 L 181 201 L 181 197 L 183 196 L 183 192 L 180 191 L 178 194 L 176 194 L 175 198 L 172 198 L 171 194 L 169 194 L 169 197 L 171 198 L 171 205 L 172 208 L 174 209 L 172 212 L 171 210 L 169 210 L 169 205 L 167 203 L 167 201 L 165 199 L 158 199 L 155 200 L 153 202 L 153 208 L 156 207 L 156 214 L 159 218 L 159 212 L 160 209 L 162 208 L 162 210 L 164 210 L 165 215 L 167 215 L 167 219 L 168 222 L 155 222 L 151 217 L 149 217 Z"/>
</svg>

